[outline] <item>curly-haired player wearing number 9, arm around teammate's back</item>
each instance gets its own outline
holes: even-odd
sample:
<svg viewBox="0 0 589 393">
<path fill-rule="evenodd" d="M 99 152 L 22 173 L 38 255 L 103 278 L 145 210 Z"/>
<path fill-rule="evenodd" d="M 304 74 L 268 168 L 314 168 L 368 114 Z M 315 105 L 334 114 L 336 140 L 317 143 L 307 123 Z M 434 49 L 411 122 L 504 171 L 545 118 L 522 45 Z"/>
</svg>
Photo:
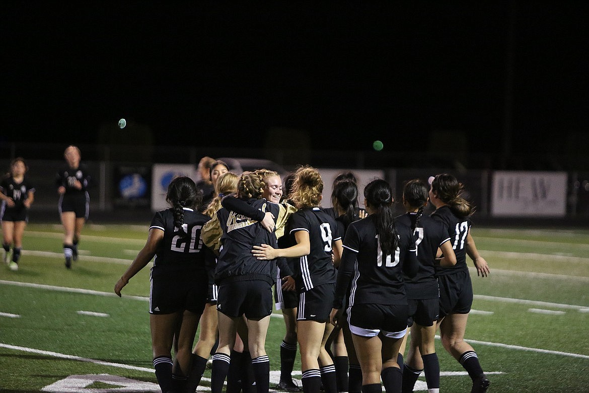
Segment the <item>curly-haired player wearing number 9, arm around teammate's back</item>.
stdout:
<svg viewBox="0 0 589 393">
<path fill-rule="evenodd" d="M 330 303 L 335 290 L 336 270 L 342 252 L 342 240 L 335 220 L 319 207 L 323 181 L 315 168 L 301 167 L 296 171 L 292 201 L 297 209 L 289 219 L 290 236 L 296 245 L 276 249 L 270 245 L 253 247 L 259 260 L 276 257 L 299 257 L 295 279 L 299 292 L 297 338 L 299 341 L 303 390 L 319 393 L 323 382 L 327 393 L 335 393 L 335 366 L 322 345 L 329 335 Z M 333 253 L 333 260 L 332 260 Z"/>
</svg>

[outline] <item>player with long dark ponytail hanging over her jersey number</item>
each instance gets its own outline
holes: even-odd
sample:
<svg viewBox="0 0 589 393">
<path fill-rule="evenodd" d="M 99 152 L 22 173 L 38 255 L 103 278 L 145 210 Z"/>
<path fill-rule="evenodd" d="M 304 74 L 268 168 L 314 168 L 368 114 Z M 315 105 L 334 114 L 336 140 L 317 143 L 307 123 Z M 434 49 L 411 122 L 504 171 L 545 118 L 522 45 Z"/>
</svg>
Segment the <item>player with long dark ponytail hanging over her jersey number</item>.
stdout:
<svg viewBox="0 0 589 393">
<path fill-rule="evenodd" d="M 417 273 L 415 240 L 409 227 L 395 222 L 389 183 L 370 181 L 364 197 L 369 216 L 350 224 L 346 233 L 330 319 L 337 325 L 342 318 L 351 282 L 348 323 L 362 368 L 362 392 L 382 392 L 381 377 L 387 392 L 400 392 L 396 361 L 409 315 L 403 273 Z"/>
</svg>

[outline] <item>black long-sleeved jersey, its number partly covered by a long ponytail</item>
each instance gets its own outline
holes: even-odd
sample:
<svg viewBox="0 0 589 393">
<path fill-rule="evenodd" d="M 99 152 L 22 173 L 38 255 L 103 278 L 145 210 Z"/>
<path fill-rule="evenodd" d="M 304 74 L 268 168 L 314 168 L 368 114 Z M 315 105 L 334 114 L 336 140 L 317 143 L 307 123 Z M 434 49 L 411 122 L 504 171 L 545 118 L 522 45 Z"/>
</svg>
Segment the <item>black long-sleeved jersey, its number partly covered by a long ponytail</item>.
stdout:
<svg viewBox="0 0 589 393">
<path fill-rule="evenodd" d="M 352 278 L 348 306 L 375 303 L 406 304 L 403 273 L 415 276 L 418 262 L 411 228 L 396 223 L 399 244 L 395 253 L 382 252 L 375 225 L 376 216 L 353 222 L 343 240 L 342 262 L 337 273 L 334 308 L 342 308 Z"/>
</svg>

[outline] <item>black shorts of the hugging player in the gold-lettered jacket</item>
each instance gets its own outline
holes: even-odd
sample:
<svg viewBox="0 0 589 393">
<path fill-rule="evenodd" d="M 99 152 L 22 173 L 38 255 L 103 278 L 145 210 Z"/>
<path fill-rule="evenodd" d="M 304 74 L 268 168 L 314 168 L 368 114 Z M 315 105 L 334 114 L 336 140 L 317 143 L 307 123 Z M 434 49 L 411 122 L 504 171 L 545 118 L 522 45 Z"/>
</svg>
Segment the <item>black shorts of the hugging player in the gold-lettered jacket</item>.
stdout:
<svg viewBox="0 0 589 393">
<path fill-rule="evenodd" d="M 217 311 L 230 318 L 259 320 L 272 313 L 272 285 L 264 280 L 233 281 L 219 286 Z"/>
</svg>

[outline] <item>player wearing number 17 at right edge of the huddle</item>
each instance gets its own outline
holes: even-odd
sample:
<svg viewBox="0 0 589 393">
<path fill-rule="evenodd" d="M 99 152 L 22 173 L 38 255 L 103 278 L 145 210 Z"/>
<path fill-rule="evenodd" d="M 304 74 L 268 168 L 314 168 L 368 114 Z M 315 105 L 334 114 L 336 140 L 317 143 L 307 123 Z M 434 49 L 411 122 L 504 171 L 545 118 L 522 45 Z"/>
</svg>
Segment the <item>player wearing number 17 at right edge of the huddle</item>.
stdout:
<svg viewBox="0 0 589 393">
<path fill-rule="evenodd" d="M 440 289 L 440 315 L 438 326 L 442 345 L 466 369 L 472 379 L 471 393 L 487 391 L 489 379 L 485 376 L 477 353 L 464 341 L 466 321 L 472 306 L 472 282 L 466 265 L 466 254 L 477 268 L 477 275 L 487 277 L 489 265 L 478 253 L 471 236 L 470 217 L 474 213 L 471 203 L 462 197 L 464 185 L 450 174 L 430 177 L 429 200 L 436 207 L 432 218 L 441 222 L 452 241 L 456 265 L 436 266 Z"/>
</svg>

